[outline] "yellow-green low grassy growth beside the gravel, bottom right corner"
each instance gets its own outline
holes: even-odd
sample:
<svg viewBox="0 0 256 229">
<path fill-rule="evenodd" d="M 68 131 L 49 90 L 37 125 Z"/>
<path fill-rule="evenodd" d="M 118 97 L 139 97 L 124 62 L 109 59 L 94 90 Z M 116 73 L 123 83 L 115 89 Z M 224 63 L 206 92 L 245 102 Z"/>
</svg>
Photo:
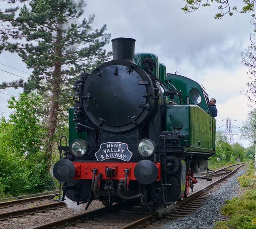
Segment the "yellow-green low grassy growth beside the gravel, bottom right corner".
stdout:
<svg viewBox="0 0 256 229">
<path fill-rule="evenodd" d="M 228 216 L 227 221 L 218 221 L 213 229 L 256 229 L 256 170 L 253 164 L 245 174 L 237 178 L 244 190 L 239 197 L 226 200 L 221 214 Z"/>
</svg>

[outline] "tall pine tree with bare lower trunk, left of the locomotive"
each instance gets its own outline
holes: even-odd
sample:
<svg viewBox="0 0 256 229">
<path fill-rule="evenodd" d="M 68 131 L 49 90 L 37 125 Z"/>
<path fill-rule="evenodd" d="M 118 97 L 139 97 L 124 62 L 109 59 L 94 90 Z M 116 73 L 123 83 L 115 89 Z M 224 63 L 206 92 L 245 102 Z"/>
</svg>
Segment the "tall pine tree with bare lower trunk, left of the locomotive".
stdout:
<svg viewBox="0 0 256 229">
<path fill-rule="evenodd" d="M 37 90 L 49 96 L 49 118 L 45 142 L 45 158 L 52 158 L 55 131 L 61 102 L 71 96 L 70 82 L 82 69 L 91 69 L 109 54 L 102 47 L 109 42 L 106 25 L 92 30 L 94 15 L 79 19 L 84 12 L 83 0 L 30 0 L 20 9 L 16 19 L 10 20 L 15 31 L 5 39 L 5 50 L 16 52 L 32 68 L 33 72 L 26 82 L 21 79 L 3 82 L 1 88 L 23 87 L 25 92 Z M 46 96 L 46 97 L 47 97 Z"/>
</svg>

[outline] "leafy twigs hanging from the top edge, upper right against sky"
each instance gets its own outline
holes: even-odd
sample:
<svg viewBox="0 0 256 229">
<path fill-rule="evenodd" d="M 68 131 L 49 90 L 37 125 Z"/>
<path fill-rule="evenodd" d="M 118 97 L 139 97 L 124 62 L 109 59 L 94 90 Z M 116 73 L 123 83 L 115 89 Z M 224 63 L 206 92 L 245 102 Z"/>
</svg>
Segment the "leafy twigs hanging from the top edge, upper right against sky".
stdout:
<svg viewBox="0 0 256 229">
<path fill-rule="evenodd" d="M 224 15 L 228 14 L 229 16 L 233 15 L 232 10 L 235 10 L 240 13 L 247 13 L 254 11 L 255 0 L 243 0 L 244 6 L 241 10 L 237 10 L 236 5 L 233 7 L 229 4 L 229 0 L 184 0 L 186 5 L 181 8 L 184 12 L 193 12 L 199 9 L 200 5 L 202 7 L 209 7 L 211 6 L 210 2 L 215 2 L 218 4 L 219 13 L 216 13 L 215 19 L 221 19 Z"/>
</svg>

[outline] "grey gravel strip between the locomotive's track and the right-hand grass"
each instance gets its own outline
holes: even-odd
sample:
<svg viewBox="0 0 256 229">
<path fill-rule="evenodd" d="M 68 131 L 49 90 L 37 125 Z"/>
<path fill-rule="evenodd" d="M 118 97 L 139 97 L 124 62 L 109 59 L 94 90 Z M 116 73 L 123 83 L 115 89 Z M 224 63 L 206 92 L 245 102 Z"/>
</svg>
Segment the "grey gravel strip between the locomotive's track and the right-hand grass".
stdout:
<svg viewBox="0 0 256 229">
<path fill-rule="evenodd" d="M 219 213 L 225 200 L 242 193 L 236 177 L 244 173 L 245 169 L 237 171 L 218 190 L 212 192 L 196 211 L 184 218 L 166 223 L 163 229 L 212 229 L 214 222 L 225 218 Z"/>
</svg>

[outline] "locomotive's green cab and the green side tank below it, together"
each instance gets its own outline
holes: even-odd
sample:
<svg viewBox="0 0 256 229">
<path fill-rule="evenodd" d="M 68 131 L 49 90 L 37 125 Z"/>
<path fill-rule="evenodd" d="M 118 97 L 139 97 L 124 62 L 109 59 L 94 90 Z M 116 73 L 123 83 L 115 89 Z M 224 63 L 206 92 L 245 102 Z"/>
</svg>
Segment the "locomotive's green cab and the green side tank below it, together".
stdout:
<svg viewBox="0 0 256 229">
<path fill-rule="evenodd" d="M 215 149 L 216 119 L 209 112 L 209 98 L 204 88 L 194 80 L 167 73 L 167 81 L 181 91 L 182 105 L 167 105 L 166 131 L 179 132 L 181 146 L 186 150 Z"/>
</svg>

